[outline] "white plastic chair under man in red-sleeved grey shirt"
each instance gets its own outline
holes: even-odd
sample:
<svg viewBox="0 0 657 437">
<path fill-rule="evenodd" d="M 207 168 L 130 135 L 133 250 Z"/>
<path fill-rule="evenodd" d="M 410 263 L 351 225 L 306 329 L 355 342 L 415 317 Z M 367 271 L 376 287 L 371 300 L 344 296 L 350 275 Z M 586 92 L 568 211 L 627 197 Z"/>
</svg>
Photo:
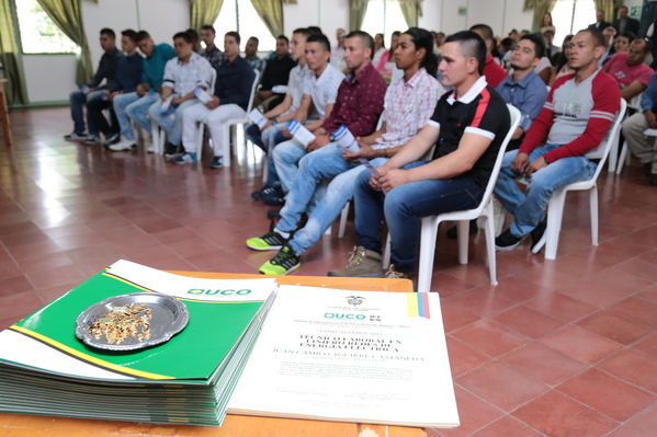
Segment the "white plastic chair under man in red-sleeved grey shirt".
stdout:
<svg viewBox="0 0 657 437">
<path fill-rule="evenodd" d="M 615 116 L 611 130 L 602 143 L 587 153 L 587 158 L 600 159 L 596 168 L 596 173 L 588 181 L 575 182 L 566 185 L 562 189 L 556 191 L 550 204 L 547 205 L 547 228 L 545 229 L 545 260 L 556 260 L 556 251 L 559 243 L 559 232 L 562 230 L 562 217 L 564 215 L 564 206 L 566 203 L 566 194 L 575 191 L 588 191 L 589 192 L 589 204 L 591 211 L 591 244 L 598 245 L 598 175 L 604 166 L 604 161 L 609 156 L 616 136 L 619 135 L 619 128 L 625 111 L 627 110 L 627 103 L 624 99 L 621 99 L 621 108 Z M 539 253 L 543 246 L 534 249 L 533 253 Z"/>
</svg>

